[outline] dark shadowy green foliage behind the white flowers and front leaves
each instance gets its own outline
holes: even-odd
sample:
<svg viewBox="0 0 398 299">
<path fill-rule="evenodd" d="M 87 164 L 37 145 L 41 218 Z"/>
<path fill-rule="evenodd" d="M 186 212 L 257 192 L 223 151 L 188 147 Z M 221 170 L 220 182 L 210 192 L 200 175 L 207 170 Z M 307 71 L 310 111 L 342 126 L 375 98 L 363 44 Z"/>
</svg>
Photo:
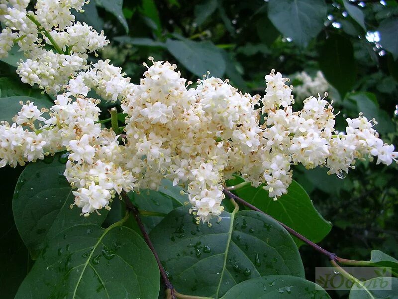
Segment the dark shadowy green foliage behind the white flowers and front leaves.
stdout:
<svg viewBox="0 0 398 299">
<path fill-rule="evenodd" d="M 260 95 L 264 94 L 264 76 L 272 68 L 286 76 L 302 70 L 313 74 L 320 69 L 337 91 L 334 107 L 341 111 L 336 120 L 338 130 L 344 130 L 344 118 L 356 117 L 362 111 L 377 119 L 376 128 L 384 141 L 398 145 L 394 114 L 398 104 L 398 3 L 364 3 L 362 7 L 359 1 L 346 0 L 92 0 L 77 19 L 105 31 L 111 49 L 100 52 L 99 58 L 109 58 L 123 67 L 135 83 L 145 71 L 142 62 L 148 56 L 176 63 L 188 80 L 195 82 L 209 70 L 211 75 L 229 78 L 243 92 Z M 379 31 L 380 42 L 369 42 L 368 31 Z M 45 106 L 50 97 L 19 82 L 13 66 L 18 57 L 14 54 L 0 62 L 0 109 L 9 110 L 10 97 L 15 96 L 33 97 L 35 103 Z M 108 118 L 108 105 L 101 105 L 101 117 Z M 12 114 L 7 115 L 10 117 Z M 0 168 L 0 297 L 4 299 L 14 297 L 33 263 L 16 230 L 11 208 L 23 168 Z M 294 178 L 317 211 L 333 224 L 320 245 L 349 259 L 369 260 L 374 249 L 397 257 L 397 174 L 396 164 L 385 167 L 368 160 L 358 161 L 343 180 L 327 176 L 322 168 L 295 167 Z M 148 205 L 144 195 L 133 198 L 139 207 Z M 159 213 L 168 213 L 183 203 L 172 201 L 170 194 L 156 196 L 156 200 L 170 200 L 167 207 L 165 204 L 157 210 Z M 113 220 L 109 224 L 123 215 L 120 207 L 113 211 L 116 206 L 109 213 Z M 162 218 L 144 222 L 152 229 Z M 306 221 L 310 227 L 315 220 L 308 217 Z M 327 222 L 319 223 L 324 226 L 323 235 L 327 234 Z M 134 223 L 129 226 L 134 229 Z M 307 246 L 301 246 L 300 253 L 305 277 L 313 281 L 314 268 L 328 265 L 327 260 Z M 228 294 L 235 293 L 231 290 Z M 230 296 L 225 298 L 234 298 Z M 347 298 L 348 294 L 330 296 Z"/>
</svg>

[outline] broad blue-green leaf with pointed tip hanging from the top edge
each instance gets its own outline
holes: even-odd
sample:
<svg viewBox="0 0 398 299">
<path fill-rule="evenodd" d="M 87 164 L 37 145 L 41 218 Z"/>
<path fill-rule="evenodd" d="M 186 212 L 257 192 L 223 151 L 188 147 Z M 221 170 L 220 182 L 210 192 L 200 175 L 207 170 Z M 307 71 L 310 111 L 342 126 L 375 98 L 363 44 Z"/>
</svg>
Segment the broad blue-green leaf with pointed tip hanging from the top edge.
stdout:
<svg viewBox="0 0 398 299">
<path fill-rule="evenodd" d="M 286 37 L 301 47 L 318 35 L 326 19 L 324 0 L 270 0 L 268 17 Z"/>
</svg>

